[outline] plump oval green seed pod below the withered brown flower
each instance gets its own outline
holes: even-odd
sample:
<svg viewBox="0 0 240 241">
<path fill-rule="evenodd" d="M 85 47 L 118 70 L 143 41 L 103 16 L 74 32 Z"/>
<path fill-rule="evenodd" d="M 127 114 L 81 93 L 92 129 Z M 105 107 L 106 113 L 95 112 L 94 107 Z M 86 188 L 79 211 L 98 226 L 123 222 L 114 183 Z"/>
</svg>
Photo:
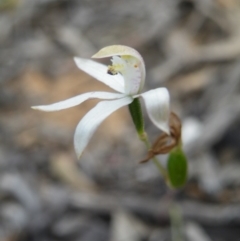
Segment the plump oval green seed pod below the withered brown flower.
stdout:
<svg viewBox="0 0 240 241">
<path fill-rule="evenodd" d="M 173 188 L 182 187 L 187 181 L 187 158 L 181 147 L 173 149 L 168 157 L 167 172 L 169 184 Z"/>
</svg>

